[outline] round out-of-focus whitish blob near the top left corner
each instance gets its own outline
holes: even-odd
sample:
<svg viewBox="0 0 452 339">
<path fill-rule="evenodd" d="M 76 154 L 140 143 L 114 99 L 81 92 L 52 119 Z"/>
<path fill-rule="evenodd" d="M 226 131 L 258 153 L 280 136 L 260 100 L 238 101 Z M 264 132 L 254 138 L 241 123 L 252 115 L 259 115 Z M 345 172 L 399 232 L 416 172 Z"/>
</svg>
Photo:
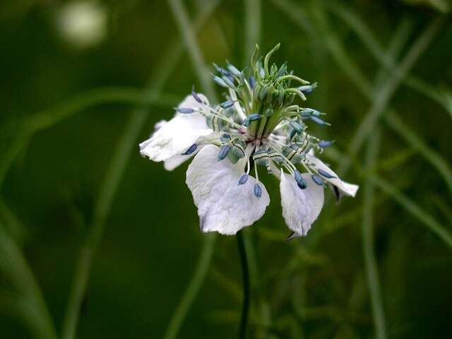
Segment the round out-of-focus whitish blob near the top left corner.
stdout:
<svg viewBox="0 0 452 339">
<path fill-rule="evenodd" d="M 96 1 L 69 2 L 57 12 L 57 28 L 73 47 L 93 47 L 107 35 L 107 11 Z"/>
</svg>

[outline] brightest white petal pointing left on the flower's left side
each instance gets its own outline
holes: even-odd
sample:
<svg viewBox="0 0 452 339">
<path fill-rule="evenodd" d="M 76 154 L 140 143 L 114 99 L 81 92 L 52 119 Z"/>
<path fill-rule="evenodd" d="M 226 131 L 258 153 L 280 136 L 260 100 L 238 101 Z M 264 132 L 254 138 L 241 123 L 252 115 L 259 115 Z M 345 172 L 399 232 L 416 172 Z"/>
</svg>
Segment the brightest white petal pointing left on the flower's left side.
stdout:
<svg viewBox="0 0 452 339">
<path fill-rule="evenodd" d="M 207 102 L 206 97 L 200 95 L 201 100 Z M 198 108 L 201 104 L 191 95 L 187 96 L 179 107 Z M 147 141 L 140 144 L 140 153 L 150 160 L 167 160 L 174 155 L 181 155 L 201 136 L 208 136 L 213 132 L 207 126 L 206 118 L 201 113 L 191 114 L 176 113 L 174 118 L 166 124 L 160 121 L 158 129 Z"/>
</svg>

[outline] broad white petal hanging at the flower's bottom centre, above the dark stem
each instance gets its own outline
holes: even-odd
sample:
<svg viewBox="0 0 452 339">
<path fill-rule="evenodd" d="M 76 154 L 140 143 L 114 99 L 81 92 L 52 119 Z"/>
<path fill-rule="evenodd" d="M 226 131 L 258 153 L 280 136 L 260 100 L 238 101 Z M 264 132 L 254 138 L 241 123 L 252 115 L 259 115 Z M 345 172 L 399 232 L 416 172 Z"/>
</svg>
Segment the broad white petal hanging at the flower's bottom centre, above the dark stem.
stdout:
<svg viewBox="0 0 452 339">
<path fill-rule="evenodd" d="M 237 186 L 244 162 L 218 161 L 218 152 L 220 148 L 214 145 L 200 150 L 186 171 L 186 184 L 198 207 L 201 230 L 236 234 L 262 217 L 270 197 L 261 183 L 261 198 L 254 196 L 253 177 Z"/>
</svg>

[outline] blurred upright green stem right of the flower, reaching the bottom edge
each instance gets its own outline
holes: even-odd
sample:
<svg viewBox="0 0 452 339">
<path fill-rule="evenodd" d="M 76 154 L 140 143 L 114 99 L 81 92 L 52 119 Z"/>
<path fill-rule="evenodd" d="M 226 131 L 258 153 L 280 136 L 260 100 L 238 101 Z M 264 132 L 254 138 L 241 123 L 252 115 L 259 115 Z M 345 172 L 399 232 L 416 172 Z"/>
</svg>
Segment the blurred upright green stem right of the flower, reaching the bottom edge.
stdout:
<svg viewBox="0 0 452 339">
<path fill-rule="evenodd" d="M 376 163 L 376 157 L 379 148 L 378 129 L 371 134 L 367 148 L 366 167 L 373 168 Z M 367 284 L 371 297 L 372 313 L 374 315 L 374 326 L 376 338 L 385 339 L 386 321 L 383 310 L 383 299 L 381 297 L 381 287 L 379 282 L 379 273 L 374 249 L 374 186 L 369 182 L 364 184 L 364 210 L 362 218 L 362 249 L 364 254 L 364 265 L 366 268 Z"/>
</svg>

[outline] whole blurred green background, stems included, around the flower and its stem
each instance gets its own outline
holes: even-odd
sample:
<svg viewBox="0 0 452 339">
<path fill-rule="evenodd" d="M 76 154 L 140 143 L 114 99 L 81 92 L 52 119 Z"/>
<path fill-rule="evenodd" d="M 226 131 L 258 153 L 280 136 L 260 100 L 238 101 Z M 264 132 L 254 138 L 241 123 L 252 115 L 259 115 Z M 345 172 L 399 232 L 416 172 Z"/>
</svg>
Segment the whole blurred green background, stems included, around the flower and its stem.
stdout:
<svg viewBox="0 0 452 339">
<path fill-rule="evenodd" d="M 451 338 L 450 6 L 1 1 L 1 338 L 237 338 L 236 239 L 201 234 L 186 164 L 138 142 L 256 42 L 319 83 L 322 157 L 361 188 L 284 242 L 263 180 L 249 338 Z"/>
</svg>

